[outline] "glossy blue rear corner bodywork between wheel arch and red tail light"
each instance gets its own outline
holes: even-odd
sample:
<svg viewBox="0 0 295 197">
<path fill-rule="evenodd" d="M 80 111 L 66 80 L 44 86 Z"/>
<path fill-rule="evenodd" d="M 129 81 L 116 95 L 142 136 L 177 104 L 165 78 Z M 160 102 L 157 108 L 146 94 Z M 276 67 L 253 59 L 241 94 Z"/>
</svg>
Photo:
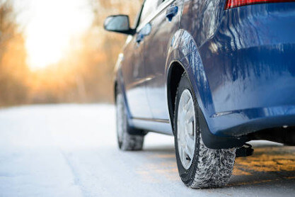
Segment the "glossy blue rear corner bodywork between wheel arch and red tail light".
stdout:
<svg viewBox="0 0 295 197">
<path fill-rule="evenodd" d="M 201 102 L 209 130 L 236 136 L 295 125 L 295 4 L 206 4 L 186 1 L 180 28 L 195 40 L 208 80 Z"/>
</svg>

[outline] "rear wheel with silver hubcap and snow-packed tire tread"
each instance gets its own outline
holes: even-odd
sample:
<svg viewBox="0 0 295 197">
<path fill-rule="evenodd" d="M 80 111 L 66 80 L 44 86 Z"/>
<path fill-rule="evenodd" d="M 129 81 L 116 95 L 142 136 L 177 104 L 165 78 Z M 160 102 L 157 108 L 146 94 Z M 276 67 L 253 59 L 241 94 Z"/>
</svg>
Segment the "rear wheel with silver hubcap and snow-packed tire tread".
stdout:
<svg viewBox="0 0 295 197">
<path fill-rule="evenodd" d="M 187 74 L 183 74 L 176 94 L 174 117 L 175 154 L 180 178 L 190 188 L 225 186 L 233 171 L 236 149 L 212 150 L 204 145 L 200 112 L 190 80 Z"/>
</svg>

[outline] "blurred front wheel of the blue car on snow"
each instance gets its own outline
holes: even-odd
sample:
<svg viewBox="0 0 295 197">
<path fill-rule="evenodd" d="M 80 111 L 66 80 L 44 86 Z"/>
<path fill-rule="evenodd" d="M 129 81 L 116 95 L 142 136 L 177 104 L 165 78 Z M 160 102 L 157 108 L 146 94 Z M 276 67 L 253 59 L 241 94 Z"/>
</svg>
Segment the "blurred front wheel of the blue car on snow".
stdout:
<svg viewBox="0 0 295 197">
<path fill-rule="evenodd" d="M 120 150 L 142 150 L 144 132 L 129 126 L 127 110 L 120 90 L 117 90 L 116 95 L 116 118 L 117 143 Z"/>
</svg>

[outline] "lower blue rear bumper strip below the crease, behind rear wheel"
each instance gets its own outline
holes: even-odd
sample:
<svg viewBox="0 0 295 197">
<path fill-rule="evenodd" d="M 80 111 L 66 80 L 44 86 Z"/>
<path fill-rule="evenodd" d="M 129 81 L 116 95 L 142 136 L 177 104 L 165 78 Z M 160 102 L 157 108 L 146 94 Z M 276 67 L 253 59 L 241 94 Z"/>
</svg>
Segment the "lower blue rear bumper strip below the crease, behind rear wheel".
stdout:
<svg viewBox="0 0 295 197">
<path fill-rule="evenodd" d="M 267 128 L 295 126 L 295 106 L 251 108 L 216 114 L 214 119 L 217 135 L 240 136 Z"/>
</svg>

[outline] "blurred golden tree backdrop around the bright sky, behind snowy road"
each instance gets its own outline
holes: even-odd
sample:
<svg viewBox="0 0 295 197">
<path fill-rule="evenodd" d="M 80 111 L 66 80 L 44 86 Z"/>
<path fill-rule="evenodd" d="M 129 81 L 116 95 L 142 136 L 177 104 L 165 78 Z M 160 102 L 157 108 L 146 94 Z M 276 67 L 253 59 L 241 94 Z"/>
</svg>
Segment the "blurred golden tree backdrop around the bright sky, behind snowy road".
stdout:
<svg viewBox="0 0 295 197">
<path fill-rule="evenodd" d="M 111 102 L 112 73 L 126 35 L 107 33 L 108 15 L 124 13 L 134 21 L 141 0 L 88 0 L 95 20 L 56 64 L 30 71 L 13 0 L 0 0 L 0 106 L 21 103 Z M 132 22 L 133 23 L 133 22 Z"/>
</svg>

